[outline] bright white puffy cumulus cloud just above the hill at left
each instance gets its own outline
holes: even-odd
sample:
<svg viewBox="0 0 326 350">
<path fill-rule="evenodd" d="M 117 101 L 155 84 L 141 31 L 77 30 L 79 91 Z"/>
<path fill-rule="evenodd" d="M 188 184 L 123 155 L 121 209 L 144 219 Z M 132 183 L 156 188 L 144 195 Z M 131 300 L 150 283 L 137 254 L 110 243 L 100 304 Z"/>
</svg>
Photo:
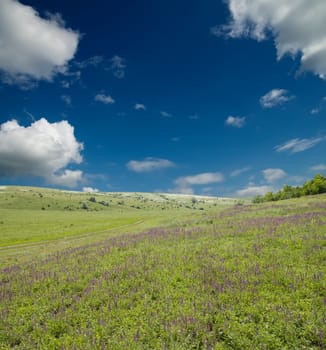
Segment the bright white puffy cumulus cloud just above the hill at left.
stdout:
<svg viewBox="0 0 326 350">
<path fill-rule="evenodd" d="M 0 126 L 0 178 L 37 176 L 74 187 L 82 180 L 82 171 L 66 168 L 82 162 L 82 149 L 67 121 L 49 123 L 42 118 L 27 127 L 7 121 Z"/>
</svg>

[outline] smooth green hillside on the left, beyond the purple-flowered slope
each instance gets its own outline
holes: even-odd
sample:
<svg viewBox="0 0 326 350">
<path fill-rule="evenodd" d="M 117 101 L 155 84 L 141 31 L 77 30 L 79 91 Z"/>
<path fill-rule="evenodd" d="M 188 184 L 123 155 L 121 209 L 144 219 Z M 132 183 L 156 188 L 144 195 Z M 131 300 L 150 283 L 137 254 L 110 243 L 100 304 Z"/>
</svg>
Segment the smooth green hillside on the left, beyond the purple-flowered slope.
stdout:
<svg viewBox="0 0 326 350">
<path fill-rule="evenodd" d="M 0 254 L 17 244 L 64 239 L 66 245 L 73 245 L 125 231 L 173 226 L 181 218 L 205 216 L 235 203 L 235 199 L 204 196 L 1 186 Z"/>
</svg>

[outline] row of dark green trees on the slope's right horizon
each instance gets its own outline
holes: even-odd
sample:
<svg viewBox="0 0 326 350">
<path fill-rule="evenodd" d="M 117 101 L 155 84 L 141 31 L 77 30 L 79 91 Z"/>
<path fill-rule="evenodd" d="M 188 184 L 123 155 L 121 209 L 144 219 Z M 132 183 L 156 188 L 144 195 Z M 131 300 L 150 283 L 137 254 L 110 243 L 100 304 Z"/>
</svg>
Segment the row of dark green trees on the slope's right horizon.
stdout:
<svg viewBox="0 0 326 350">
<path fill-rule="evenodd" d="M 315 175 L 312 180 L 306 181 L 302 186 L 284 187 L 278 192 L 267 192 L 264 196 L 256 196 L 254 203 L 263 203 L 270 201 L 279 201 L 283 199 L 299 198 L 302 196 L 310 196 L 313 194 L 326 193 L 326 177 L 321 174 Z"/>
</svg>

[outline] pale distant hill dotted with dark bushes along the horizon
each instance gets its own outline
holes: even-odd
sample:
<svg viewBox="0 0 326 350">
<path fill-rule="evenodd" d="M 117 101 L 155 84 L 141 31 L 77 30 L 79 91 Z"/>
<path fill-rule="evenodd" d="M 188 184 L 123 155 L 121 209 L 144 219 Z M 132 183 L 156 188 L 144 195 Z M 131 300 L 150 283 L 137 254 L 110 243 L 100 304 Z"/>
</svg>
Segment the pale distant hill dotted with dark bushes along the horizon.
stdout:
<svg viewBox="0 0 326 350">
<path fill-rule="evenodd" d="M 78 192 L 28 186 L 0 186 L 0 208 L 41 210 L 208 209 L 234 198 L 142 192 Z"/>
</svg>

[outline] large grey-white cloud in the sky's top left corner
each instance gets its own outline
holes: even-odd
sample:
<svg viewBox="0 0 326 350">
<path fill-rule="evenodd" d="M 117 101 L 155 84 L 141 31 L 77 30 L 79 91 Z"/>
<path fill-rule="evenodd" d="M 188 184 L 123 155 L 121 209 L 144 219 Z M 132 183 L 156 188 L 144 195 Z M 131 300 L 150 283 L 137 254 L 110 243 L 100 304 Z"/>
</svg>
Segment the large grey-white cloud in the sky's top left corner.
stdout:
<svg viewBox="0 0 326 350">
<path fill-rule="evenodd" d="M 65 28 L 60 15 L 41 18 L 16 0 L 0 1 L 0 70 L 8 84 L 32 87 L 67 70 L 79 33 Z"/>
</svg>

